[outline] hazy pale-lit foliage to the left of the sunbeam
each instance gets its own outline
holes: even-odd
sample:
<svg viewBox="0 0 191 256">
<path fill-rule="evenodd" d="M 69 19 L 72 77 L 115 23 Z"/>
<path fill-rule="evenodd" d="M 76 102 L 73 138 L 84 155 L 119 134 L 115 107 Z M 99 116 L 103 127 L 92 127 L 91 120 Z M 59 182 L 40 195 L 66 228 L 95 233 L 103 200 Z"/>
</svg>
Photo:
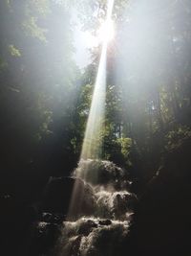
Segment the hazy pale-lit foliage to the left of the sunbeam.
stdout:
<svg viewBox="0 0 191 256">
<path fill-rule="evenodd" d="M 75 157 L 79 71 L 69 24 L 66 7 L 53 1 L 0 3 L 3 183 L 14 169 L 15 175 L 32 163 L 37 168 L 48 163 L 51 169 L 50 162 L 59 165 L 59 155 Z"/>
</svg>

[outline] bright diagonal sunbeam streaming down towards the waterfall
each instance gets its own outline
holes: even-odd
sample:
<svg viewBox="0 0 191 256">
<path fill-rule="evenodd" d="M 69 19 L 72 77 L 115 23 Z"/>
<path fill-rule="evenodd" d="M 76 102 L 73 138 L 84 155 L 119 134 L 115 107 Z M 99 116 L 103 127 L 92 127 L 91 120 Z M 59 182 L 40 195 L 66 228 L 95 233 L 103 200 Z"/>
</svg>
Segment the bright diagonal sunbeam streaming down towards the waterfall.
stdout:
<svg viewBox="0 0 191 256">
<path fill-rule="evenodd" d="M 79 165 L 81 160 L 87 159 L 101 159 L 102 153 L 102 131 L 104 129 L 105 119 L 105 98 L 106 98 L 106 61 L 107 61 L 107 47 L 109 41 L 112 39 L 113 25 L 111 23 L 112 11 L 114 6 L 114 0 L 108 1 L 107 17 L 104 27 L 101 29 L 102 38 L 102 50 L 99 60 L 95 89 L 93 93 L 93 100 L 90 108 L 90 113 L 86 125 L 85 136 L 82 145 L 82 151 L 79 159 Z M 106 33 L 107 30 L 107 33 Z M 104 35 L 105 32 L 105 35 Z M 81 172 L 84 172 L 81 169 Z M 86 174 L 84 174 L 86 175 Z M 77 177 L 79 175 L 76 175 Z M 96 176 L 96 175 L 95 175 Z M 68 217 L 74 215 L 76 198 L 79 200 L 81 195 L 80 188 L 74 183 L 74 191 L 71 199 Z"/>
</svg>

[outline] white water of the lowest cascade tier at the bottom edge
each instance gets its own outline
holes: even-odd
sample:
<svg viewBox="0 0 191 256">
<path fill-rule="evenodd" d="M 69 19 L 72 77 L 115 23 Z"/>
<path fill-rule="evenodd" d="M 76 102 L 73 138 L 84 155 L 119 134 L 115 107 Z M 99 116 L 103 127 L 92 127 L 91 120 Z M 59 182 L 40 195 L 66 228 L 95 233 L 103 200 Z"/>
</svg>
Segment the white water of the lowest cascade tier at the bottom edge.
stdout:
<svg viewBox="0 0 191 256">
<path fill-rule="evenodd" d="M 129 226 L 128 221 L 112 221 L 103 225 L 97 218 L 81 218 L 64 224 L 57 247 L 59 256 L 115 255 L 115 246 L 126 237 Z"/>
</svg>

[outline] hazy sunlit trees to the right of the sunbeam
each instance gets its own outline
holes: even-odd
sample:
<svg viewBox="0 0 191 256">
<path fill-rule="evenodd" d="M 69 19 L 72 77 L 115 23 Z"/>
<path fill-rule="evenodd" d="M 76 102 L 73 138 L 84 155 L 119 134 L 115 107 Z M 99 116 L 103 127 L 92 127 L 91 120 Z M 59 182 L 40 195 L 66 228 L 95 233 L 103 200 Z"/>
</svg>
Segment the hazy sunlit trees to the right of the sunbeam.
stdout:
<svg viewBox="0 0 191 256">
<path fill-rule="evenodd" d="M 84 29 L 94 34 L 105 18 L 106 2 L 93 1 L 89 5 L 84 1 L 83 7 L 79 10 Z M 143 159 L 152 158 L 155 166 L 167 147 L 166 138 L 180 133 L 171 124 L 177 122 L 189 129 L 190 10 L 187 1 L 115 2 L 113 18 L 117 30 L 107 56 L 103 158 L 128 165 L 129 149 L 121 147 L 125 144 L 122 140 L 130 138 Z M 89 12 L 92 15 L 86 17 L 84 13 Z M 91 65 L 96 67 L 100 49 L 94 49 L 92 54 Z M 90 66 L 87 76 L 87 81 L 94 83 Z M 173 142 L 169 143 L 173 147 Z"/>
</svg>

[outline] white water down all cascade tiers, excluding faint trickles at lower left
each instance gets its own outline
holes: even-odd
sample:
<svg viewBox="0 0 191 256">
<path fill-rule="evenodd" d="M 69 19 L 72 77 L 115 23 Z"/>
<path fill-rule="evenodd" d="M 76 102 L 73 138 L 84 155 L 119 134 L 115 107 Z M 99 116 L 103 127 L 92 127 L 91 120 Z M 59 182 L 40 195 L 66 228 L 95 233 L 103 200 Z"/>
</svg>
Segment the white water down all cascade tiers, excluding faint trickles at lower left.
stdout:
<svg viewBox="0 0 191 256">
<path fill-rule="evenodd" d="M 75 220 L 63 222 L 54 255 L 115 256 L 117 247 L 127 237 L 133 214 L 132 201 L 136 199 L 128 192 L 128 174 L 112 162 L 89 159 L 79 163 L 74 175 L 85 172 L 88 177 L 93 166 L 94 171 L 96 168 L 101 171 L 97 172 L 97 182 L 95 179 L 94 184 L 91 180 L 87 182 L 83 177 L 84 185 L 91 187 L 83 199 L 94 201 L 92 213 L 85 215 L 81 209 Z"/>
</svg>

